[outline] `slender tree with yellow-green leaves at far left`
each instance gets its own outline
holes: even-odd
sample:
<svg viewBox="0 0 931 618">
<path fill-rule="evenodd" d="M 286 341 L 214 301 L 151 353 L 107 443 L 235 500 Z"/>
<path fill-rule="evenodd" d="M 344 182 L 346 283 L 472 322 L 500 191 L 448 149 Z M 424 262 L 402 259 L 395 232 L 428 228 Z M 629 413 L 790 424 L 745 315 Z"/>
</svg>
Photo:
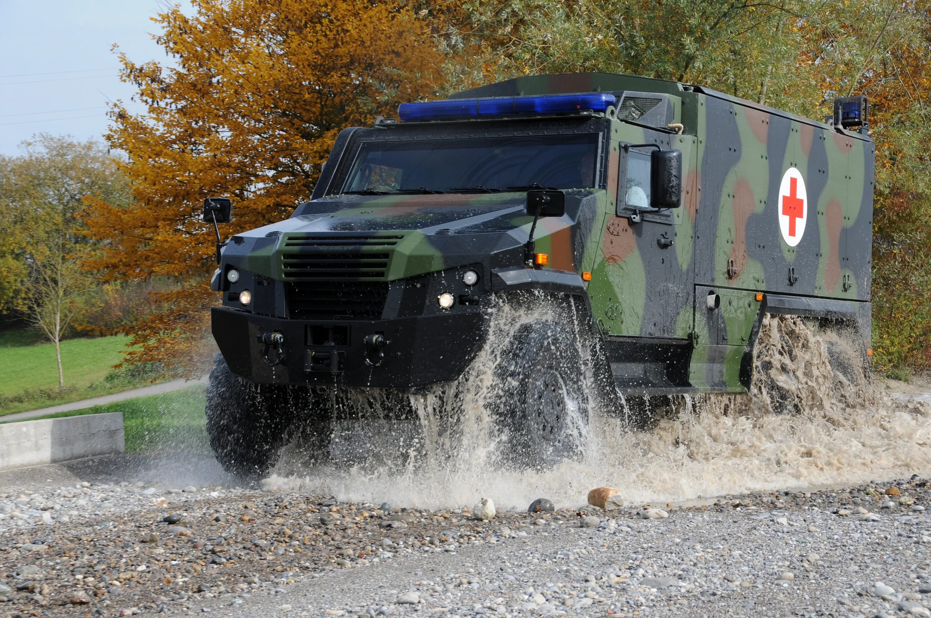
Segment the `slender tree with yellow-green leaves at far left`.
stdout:
<svg viewBox="0 0 931 618">
<path fill-rule="evenodd" d="M 93 287 L 81 261 L 94 249 L 75 215 L 84 198 L 126 207 L 126 179 L 99 142 L 41 135 L 21 156 L 0 160 L 0 229 L 4 297 L 55 344 L 59 386 L 61 339 Z"/>
</svg>

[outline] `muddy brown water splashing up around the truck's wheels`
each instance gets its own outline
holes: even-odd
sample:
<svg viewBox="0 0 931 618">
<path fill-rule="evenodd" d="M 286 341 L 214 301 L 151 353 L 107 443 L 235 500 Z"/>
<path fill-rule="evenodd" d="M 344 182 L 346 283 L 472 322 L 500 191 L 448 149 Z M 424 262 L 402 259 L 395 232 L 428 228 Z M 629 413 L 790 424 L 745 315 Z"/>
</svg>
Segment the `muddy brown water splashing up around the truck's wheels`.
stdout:
<svg viewBox="0 0 931 618">
<path fill-rule="evenodd" d="M 849 333 L 789 316 L 765 316 L 749 394 L 682 397 L 678 414 L 649 431 L 628 428 L 623 401 L 625 410 L 592 401 L 587 425 L 572 424 L 584 447 L 580 461 L 515 469 L 500 457 L 506 430 L 492 411 L 512 386 L 495 379 L 496 369 L 515 362 L 508 333 L 547 320 L 579 325 L 539 302 L 501 304 L 492 320 L 490 341 L 462 379 L 407 396 L 412 431 L 383 424 L 403 423 L 384 420 L 385 397 L 377 418 L 362 414 L 345 431 L 337 423 L 331 450 L 352 451 L 353 464 L 308 463 L 295 442 L 263 486 L 398 506 L 449 508 L 484 496 L 526 508 L 538 497 L 584 504 L 587 491 L 603 485 L 628 504 L 655 504 L 931 470 L 931 406 L 871 386 L 851 361 Z M 593 392 L 591 371 L 583 379 Z"/>
</svg>

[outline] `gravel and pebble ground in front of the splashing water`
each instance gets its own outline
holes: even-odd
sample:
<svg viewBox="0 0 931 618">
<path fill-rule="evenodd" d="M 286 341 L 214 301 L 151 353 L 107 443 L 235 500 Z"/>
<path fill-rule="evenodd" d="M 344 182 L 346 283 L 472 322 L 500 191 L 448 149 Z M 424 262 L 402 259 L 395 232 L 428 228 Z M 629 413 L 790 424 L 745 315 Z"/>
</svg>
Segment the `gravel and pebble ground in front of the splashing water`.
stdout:
<svg viewBox="0 0 931 618">
<path fill-rule="evenodd" d="M 931 616 L 917 477 L 486 522 L 125 464 L 0 474 L 0 615 Z"/>
</svg>

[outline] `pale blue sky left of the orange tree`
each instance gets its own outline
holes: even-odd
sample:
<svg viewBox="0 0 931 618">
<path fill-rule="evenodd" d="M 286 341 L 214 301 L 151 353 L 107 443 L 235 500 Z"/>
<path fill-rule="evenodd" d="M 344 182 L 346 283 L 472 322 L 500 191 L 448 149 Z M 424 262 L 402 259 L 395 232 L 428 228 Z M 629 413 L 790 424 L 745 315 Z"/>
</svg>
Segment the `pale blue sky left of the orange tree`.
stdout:
<svg viewBox="0 0 931 618">
<path fill-rule="evenodd" d="M 151 33 L 165 0 L 0 0 L 0 155 L 34 134 L 102 140 L 107 101 L 129 111 L 114 44 L 130 60 L 171 63 Z M 182 8 L 189 5 L 182 3 Z"/>
</svg>

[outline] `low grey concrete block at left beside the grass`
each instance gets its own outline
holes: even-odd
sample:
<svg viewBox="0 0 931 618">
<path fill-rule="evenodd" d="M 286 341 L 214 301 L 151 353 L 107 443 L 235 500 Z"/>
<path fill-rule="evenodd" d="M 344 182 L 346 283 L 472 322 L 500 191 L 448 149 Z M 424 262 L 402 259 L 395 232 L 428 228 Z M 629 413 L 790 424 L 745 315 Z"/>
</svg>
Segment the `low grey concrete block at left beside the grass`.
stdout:
<svg viewBox="0 0 931 618">
<path fill-rule="evenodd" d="M 0 424 L 0 470 L 124 450 L 122 412 Z"/>
</svg>

